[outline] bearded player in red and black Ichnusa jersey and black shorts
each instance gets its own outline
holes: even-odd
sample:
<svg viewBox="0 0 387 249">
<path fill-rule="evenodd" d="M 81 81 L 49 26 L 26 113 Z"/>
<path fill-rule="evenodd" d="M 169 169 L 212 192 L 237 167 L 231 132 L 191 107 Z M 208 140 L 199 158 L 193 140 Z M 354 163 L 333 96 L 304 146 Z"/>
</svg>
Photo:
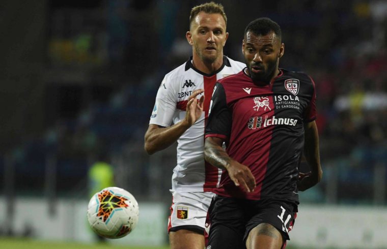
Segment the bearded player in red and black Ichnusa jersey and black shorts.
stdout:
<svg viewBox="0 0 387 249">
<path fill-rule="evenodd" d="M 279 68 L 284 49 L 277 23 L 252 21 L 242 43 L 247 68 L 215 85 L 205 159 L 223 174 L 209 210 L 211 249 L 285 247 L 298 191 L 322 177 L 315 84 Z M 306 174 L 298 171 L 302 151 Z"/>
</svg>

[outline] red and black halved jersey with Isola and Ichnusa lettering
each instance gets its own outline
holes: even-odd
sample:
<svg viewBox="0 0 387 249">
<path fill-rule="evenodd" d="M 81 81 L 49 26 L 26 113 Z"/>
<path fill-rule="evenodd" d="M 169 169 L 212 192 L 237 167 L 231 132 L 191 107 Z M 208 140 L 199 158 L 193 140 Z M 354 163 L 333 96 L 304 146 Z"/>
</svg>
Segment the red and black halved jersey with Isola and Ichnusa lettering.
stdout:
<svg viewBox="0 0 387 249">
<path fill-rule="evenodd" d="M 316 118 L 313 80 L 305 73 L 280 69 L 270 84 L 256 85 L 242 70 L 219 80 L 212 95 L 206 137 L 226 141 L 230 157 L 250 168 L 254 193 L 235 186 L 226 170 L 222 196 L 296 201 L 298 165 L 304 144 L 303 124 Z"/>
</svg>

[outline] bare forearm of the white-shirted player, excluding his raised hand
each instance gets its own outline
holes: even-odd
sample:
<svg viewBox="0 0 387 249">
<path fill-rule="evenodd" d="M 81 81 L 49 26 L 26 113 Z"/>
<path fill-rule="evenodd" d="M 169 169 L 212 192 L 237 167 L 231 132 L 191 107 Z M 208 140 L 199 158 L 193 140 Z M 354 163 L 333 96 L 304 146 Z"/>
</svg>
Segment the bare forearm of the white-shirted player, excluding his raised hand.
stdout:
<svg viewBox="0 0 387 249">
<path fill-rule="evenodd" d="M 148 129 L 144 148 L 148 154 L 163 150 L 175 143 L 188 128 L 186 122 L 181 121 L 167 128 Z"/>
</svg>

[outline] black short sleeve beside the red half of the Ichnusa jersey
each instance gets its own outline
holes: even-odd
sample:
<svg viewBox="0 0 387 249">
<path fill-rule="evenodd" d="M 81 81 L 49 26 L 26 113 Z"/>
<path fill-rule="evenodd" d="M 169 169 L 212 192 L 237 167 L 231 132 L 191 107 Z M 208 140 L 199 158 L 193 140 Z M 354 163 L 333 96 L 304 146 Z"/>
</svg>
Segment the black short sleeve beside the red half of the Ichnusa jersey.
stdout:
<svg viewBox="0 0 387 249">
<path fill-rule="evenodd" d="M 220 83 L 215 84 L 209 110 L 206 138 L 218 137 L 228 140 L 231 132 L 232 113 L 227 106 L 225 89 Z"/>
</svg>

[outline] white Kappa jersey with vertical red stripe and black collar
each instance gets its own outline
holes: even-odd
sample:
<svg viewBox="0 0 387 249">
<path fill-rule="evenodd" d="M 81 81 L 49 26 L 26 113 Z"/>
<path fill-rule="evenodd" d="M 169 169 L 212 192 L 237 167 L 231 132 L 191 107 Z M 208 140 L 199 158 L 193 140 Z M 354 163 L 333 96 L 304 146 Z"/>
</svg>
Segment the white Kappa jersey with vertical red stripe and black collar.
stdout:
<svg viewBox="0 0 387 249">
<path fill-rule="evenodd" d="M 188 97 L 193 90 L 204 89 L 202 116 L 177 140 L 177 165 L 173 170 L 172 190 L 176 192 L 207 192 L 216 188 L 222 170 L 204 161 L 204 127 L 208 118 L 215 82 L 236 74 L 245 64 L 226 56 L 223 65 L 211 75 L 192 66 L 192 57 L 165 75 L 158 89 L 150 124 L 169 127 L 184 119 Z M 198 99 L 200 96 L 198 96 Z"/>
</svg>

